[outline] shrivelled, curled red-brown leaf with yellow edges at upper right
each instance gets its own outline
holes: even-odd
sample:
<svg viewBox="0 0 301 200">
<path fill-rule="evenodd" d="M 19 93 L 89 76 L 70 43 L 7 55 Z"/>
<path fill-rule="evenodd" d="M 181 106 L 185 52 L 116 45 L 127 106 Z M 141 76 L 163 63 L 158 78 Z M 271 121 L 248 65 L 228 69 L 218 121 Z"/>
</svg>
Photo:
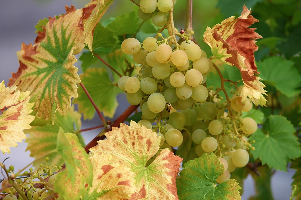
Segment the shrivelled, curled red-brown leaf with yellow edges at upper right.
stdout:
<svg viewBox="0 0 301 200">
<path fill-rule="evenodd" d="M 249 97 L 256 105 L 265 105 L 267 100 L 262 94 L 267 91 L 259 81 L 261 78 L 254 75 L 258 74 L 254 62 L 254 51 L 258 49 L 255 39 L 262 37 L 255 32 L 256 28 L 248 28 L 255 22 L 258 20 L 244 5 L 240 17 L 229 17 L 213 28 L 207 27 L 204 41 L 211 47 L 214 58 L 240 70 L 244 82 L 241 98 L 245 100 Z"/>
</svg>

